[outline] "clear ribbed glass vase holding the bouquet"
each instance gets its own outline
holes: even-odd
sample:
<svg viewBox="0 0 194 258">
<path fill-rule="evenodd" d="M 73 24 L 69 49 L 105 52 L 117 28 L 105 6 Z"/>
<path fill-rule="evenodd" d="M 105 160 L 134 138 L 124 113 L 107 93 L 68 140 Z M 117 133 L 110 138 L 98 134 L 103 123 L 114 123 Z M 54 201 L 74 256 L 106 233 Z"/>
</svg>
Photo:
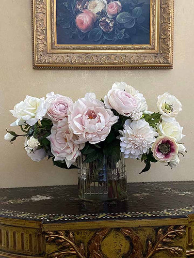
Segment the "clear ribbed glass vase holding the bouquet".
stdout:
<svg viewBox="0 0 194 258">
<path fill-rule="evenodd" d="M 79 197 L 88 201 L 110 201 L 127 196 L 126 165 L 123 153 L 118 161 L 104 156 L 103 161 L 83 163 L 77 160 Z"/>
</svg>

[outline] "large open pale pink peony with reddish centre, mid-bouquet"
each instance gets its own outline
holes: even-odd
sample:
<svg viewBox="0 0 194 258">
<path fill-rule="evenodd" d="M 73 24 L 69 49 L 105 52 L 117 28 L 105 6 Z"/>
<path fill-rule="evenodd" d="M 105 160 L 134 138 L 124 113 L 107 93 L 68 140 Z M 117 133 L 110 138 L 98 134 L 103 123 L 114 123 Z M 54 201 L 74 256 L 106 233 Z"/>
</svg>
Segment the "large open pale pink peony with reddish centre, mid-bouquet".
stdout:
<svg viewBox="0 0 194 258">
<path fill-rule="evenodd" d="M 95 93 L 86 93 L 69 107 L 67 113 L 69 128 L 78 136 L 78 143 L 104 141 L 111 126 L 118 121 L 118 117 L 96 99 Z"/>
</svg>

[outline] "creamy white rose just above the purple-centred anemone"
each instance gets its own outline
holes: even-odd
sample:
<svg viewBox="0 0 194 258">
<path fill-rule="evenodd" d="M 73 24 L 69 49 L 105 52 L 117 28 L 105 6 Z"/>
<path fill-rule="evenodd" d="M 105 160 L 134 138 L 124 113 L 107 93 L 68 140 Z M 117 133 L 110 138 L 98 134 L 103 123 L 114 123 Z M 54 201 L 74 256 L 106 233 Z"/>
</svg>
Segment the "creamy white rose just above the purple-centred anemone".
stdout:
<svg viewBox="0 0 194 258">
<path fill-rule="evenodd" d="M 162 121 L 162 123 L 159 124 L 158 133 L 160 136 L 165 135 L 175 138 L 177 141 L 180 141 L 182 137 L 185 136 L 182 135 L 182 130 L 183 127 L 181 127 L 177 121 Z"/>
</svg>

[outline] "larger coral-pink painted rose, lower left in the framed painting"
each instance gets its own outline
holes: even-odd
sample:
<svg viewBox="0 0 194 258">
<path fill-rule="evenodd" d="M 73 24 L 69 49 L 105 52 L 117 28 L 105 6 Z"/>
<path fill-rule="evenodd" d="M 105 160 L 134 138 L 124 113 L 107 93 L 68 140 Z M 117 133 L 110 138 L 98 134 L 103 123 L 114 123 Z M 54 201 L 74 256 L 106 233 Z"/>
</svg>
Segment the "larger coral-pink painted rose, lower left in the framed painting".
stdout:
<svg viewBox="0 0 194 258">
<path fill-rule="evenodd" d="M 95 21 L 95 14 L 86 9 L 83 10 L 83 13 L 76 16 L 76 26 L 84 33 L 92 30 Z"/>
</svg>

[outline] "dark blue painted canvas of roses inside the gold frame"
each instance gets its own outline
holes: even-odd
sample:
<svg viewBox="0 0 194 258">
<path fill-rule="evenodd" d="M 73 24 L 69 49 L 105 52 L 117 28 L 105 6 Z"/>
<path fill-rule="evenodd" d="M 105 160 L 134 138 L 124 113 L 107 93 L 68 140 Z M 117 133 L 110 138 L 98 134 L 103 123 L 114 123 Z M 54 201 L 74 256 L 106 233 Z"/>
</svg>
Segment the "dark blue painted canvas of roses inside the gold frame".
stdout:
<svg viewBox="0 0 194 258">
<path fill-rule="evenodd" d="M 69 42 L 136 44 L 140 35 L 141 41 L 149 38 L 150 9 L 145 1 L 59 0 L 57 10 L 57 25 Z"/>
</svg>

